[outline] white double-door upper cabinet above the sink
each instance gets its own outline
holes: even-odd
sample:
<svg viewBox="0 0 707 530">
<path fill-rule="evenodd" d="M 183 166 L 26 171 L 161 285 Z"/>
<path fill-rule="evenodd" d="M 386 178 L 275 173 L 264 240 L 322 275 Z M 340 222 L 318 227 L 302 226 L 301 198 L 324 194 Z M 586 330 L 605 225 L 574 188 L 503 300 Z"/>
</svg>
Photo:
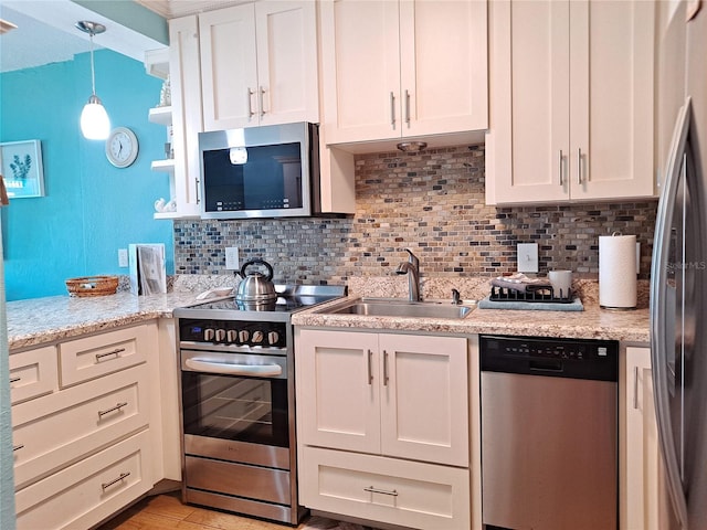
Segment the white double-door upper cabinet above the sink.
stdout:
<svg viewBox="0 0 707 530">
<path fill-rule="evenodd" d="M 486 2 L 325 0 L 327 144 L 487 126 Z"/>
</svg>

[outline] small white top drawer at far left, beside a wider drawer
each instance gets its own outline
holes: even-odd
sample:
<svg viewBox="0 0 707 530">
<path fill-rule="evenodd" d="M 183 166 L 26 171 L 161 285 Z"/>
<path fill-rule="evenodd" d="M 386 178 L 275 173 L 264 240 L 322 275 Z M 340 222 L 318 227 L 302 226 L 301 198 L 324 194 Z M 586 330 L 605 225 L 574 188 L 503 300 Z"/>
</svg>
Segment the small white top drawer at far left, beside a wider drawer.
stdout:
<svg viewBox="0 0 707 530">
<path fill-rule="evenodd" d="M 10 402 L 12 404 L 59 390 L 56 347 L 10 356 Z"/>
</svg>

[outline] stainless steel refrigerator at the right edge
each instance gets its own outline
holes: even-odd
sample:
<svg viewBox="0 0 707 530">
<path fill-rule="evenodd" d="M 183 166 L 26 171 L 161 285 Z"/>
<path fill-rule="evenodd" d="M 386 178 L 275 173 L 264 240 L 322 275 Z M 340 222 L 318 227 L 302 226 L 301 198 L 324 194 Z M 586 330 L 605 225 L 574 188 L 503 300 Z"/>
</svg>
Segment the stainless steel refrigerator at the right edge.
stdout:
<svg viewBox="0 0 707 530">
<path fill-rule="evenodd" d="M 669 528 L 707 529 L 707 6 L 674 3 L 658 116 L 679 94 L 651 277 L 651 348 Z M 667 74 L 672 75 L 667 75 Z M 682 94 L 680 94 L 682 93 Z M 661 100 L 663 98 L 663 100 Z"/>
</svg>

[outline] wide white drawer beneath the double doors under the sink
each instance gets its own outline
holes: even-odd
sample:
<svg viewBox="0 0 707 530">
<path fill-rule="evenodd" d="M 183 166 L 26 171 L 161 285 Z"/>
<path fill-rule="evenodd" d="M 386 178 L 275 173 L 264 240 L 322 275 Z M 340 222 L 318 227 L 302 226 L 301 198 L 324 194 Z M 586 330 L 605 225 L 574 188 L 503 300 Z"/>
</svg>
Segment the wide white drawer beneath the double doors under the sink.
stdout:
<svg viewBox="0 0 707 530">
<path fill-rule="evenodd" d="M 300 502 L 408 528 L 471 528 L 468 469 L 304 447 Z"/>
</svg>

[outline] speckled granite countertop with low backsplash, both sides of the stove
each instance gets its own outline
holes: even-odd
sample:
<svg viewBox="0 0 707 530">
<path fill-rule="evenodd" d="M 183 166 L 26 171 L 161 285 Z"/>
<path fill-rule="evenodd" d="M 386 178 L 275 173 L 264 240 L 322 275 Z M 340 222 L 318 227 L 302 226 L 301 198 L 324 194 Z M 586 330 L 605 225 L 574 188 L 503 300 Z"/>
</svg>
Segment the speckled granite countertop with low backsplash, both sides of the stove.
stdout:
<svg viewBox="0 0 707 530">
<path fill-rule="evenodd" d="M 7 305 L 10 350 L 41 346 L 155 318 L 171 318 L 175 308 L 194 304 L 199 293 L 233 282 L 224 276 L 183 276 L 176 282 L 173 290 L 165 295 L 137 296 L 118 292 L 115 295 L 98 297 L 53 296 L 10 301 Z M 478 299 L 487 293 L 487 279 L 428 279 L 422 287 L 425 299 L 444 299 L 451 288 L 460 288 L 463 298 Z M 477 308 L 463 319 L 422 319 L 318 312 L 326 307 L 325 305 L 293 315 L 293 324 L 432 333 L 503 333 L 650 342 L 650 317 L 645 298 L 640 299 L 637 309 L 612 311 L 599 307 L 595 289 L 591 284 L 579 287 L 584 304 L 583 311 Z M 352 279 L 349 293 L 350 298 L 377 296 L 404 299 L 407 283 L 391 277 Z"/>
</svg>

